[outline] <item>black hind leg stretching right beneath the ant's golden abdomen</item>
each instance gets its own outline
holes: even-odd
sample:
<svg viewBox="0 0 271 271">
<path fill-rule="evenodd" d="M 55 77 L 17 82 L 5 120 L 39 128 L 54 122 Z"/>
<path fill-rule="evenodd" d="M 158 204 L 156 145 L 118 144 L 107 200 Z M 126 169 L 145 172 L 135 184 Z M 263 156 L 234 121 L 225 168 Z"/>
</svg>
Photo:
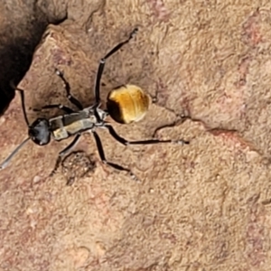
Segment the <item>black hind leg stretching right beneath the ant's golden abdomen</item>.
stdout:
<svg viewBox="0 0 271 271">
<path fill-rule="evenodd" d="M 160 143 L 173 143 L 173 144 L 189 144 L 189 141 L 184 140 L 160 140 L 160 139 L 146 139 L 146 140 L 137 140 L 137 141 L 128 141 L 125 138 L 121 137 L 120 135 L 117 135 L 117 132 L 112 126 L 106 125 L 110 135 L 112 135 L 118 142 L 120 142 L 123 145 L 151 145 L 151 144 L 160 144 Z"/>
</svg>

